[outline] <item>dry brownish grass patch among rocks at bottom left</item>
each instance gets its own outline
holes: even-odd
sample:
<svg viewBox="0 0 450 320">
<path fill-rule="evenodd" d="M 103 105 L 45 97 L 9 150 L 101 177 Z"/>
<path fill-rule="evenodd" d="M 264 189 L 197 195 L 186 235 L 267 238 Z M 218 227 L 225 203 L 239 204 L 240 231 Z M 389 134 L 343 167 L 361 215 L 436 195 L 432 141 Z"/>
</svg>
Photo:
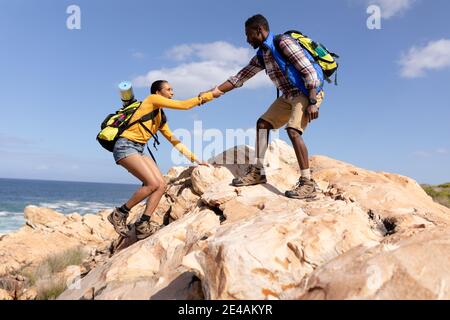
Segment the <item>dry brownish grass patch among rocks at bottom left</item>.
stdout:
<svg viewBox="0 0 450 320">
<path fill-rule="evenodd" d="M 78 247 L 50 255 L 34 268 L 20 272 L 28 279 L 29 286 L 36 286 L 38 300 L 56 299 L 65 289 L 66 280 L 60 273 L 68 266 L 81 265 L 88 254 Z"/>
</svg>

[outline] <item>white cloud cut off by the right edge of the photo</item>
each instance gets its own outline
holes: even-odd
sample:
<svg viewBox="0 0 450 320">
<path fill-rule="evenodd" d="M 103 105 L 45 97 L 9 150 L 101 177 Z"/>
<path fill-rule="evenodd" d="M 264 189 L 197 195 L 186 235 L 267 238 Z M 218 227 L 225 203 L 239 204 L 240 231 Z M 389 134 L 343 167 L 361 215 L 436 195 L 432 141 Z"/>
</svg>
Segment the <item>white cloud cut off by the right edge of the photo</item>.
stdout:
<svg viewBox="0 0 450 320">
<path fill-rule="evenodd" d="M 426 70 L 439 70 L 450 67 L 450 39 L 429 42 L 425 47 L 412 47 L 400 60 L 401 75 L 417 78 Z"/>
</svg>

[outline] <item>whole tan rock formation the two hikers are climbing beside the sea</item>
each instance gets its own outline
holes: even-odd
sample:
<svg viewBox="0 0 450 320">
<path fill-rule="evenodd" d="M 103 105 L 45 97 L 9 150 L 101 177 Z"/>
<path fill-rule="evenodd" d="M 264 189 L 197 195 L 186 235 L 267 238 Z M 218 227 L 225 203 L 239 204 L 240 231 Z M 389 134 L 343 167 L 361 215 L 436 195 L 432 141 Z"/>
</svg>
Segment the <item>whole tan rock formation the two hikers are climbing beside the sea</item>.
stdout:
<svg viewBox="0 0 450 320">
<path fill-rule="evenodd" d="M 137 243 L 115 241 L 115 254 L 59 298 L 449 297 L 450 209 L 433 202 L 414 180 L 316 156 L 311 167 L 321 192 L 314 201 L 294 200 L 283 193 L 299 169 L 292 148 L 280 140 L 267 152 L 267 184 L 230 185 L 253 156 L 251 148 L 236 147 L 211 159 L 211 167 L 172 168 L 156 210 L 166 226 Z M 18 240 L 20 234 L 51 242 L 52 234 L 67 236 L 72 224 L 80 230 L 74 245 L 105 245 L 116 238 L 101 223 L 105 214 L 35 214 L 0 248 L 4 241 L 22 246 L 23 256 L 10 254 L 14 259 L 8 260 L 20 265 L 20 258 L 37 254 L 33 244 Z"/>
</svg>

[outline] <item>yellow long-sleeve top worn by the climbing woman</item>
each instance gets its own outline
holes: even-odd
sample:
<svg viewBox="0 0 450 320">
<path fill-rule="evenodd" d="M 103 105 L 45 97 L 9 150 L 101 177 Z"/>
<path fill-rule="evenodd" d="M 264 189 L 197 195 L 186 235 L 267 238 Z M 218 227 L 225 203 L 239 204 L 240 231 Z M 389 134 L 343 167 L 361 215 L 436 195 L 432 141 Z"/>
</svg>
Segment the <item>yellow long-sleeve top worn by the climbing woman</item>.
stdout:
<svg viewBox="0 0 450 320">
<path fill-rule="evenodd" d="M 142 101 L 141 106 L 131 118 L 130 123 L 140 119 L 142 116 L 152 112 L 155 109 L 169 108 L 177 110 L 189 110 L 195 106 L 200 105 L 202 102 L 205 103 L 213 99 L 214 97 L 212 95 L 212 92 L 208 92 L 203 94 L 201 97 L 195 97 L 188 100 L 172 100 L 164 98 L 163 96 L 157 94 L 152 94 L 145 98 L 144 101 Z M 162 135 L 167 140 L 169 140 L 170 143 L 186 158 L 188 158 L 191 162 L 196 161 L 197 157 L 195 156 L 195 154 L 193 154 L 184 144 L 181 143 L 180 140 L 177 139 L 177 137 L 174 136 L 167 122 L 162 127 L 160 127 L 161 120 L 161 113 L 158 113 L 155 118 L 144 122 L 144 125 L 152 132 L 152 134 L 156 134 L 159 130 Z M 151 134 L 147 132 L 147 130 L 145 130 L 145 128 L 140 123 L 136 123 L 135 125 L 125 130 L 121 134 L 121 137 L 138 143 L 147 143 L 147 141 L 151 138 Z"/>
</svg>

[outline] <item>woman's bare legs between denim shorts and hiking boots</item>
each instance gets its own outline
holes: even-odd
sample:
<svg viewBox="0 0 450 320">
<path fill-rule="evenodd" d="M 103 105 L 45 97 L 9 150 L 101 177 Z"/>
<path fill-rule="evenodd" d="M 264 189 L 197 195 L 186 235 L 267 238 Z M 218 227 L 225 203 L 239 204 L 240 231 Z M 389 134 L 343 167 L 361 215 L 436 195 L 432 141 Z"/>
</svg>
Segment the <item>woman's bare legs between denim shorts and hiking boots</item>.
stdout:
<svg viewBox="0 0 450 320">
<path fill-rule="evenodd" d="M 140 154 L 133 154 L 118 162 L 119 165 L 127 169 L 143 183 L 142 187 L 140 187 L 126 203 L 126 206 L 129 209 L 133 208 L 148 196 L 153 196 L 154 193 L 161 195 L 164 193 L 164 191 L 161 192 L 161 189 L 165 188 L 165 186 L 161 186 L 159 176 L 151 170 L 144 159 L 144 156 Z M 159 198 L 161 198 L 161 196 Z"/>
</svg>

